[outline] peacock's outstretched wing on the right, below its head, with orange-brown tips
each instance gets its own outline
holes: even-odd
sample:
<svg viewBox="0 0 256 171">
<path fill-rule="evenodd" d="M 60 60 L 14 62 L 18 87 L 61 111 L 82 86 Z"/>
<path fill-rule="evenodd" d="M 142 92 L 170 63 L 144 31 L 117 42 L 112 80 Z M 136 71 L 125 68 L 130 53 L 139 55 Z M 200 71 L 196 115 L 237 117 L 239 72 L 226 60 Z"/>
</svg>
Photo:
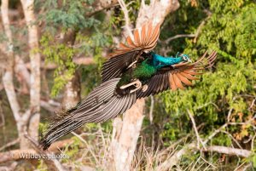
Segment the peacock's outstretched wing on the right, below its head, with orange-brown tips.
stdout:
<svg viewBox="0 0 256 171">
<path fill-rule="evenodd" d="M 137 92 L 137 98 L 147 97 L 148 95 L 159 94 L 168 88 L 177 90 L 177 88 L 184 89 L 184 85 L 192 85 L 191 80 L 198 79 L 196 75 L 201 75 L 204 69 L 211 67 L 217 57 L 217 52 L 213 51 L 208 55 L 207 52 L 203 54 L 200 60 L 195 63 L 180 63 L 174 66 L 162 68 L 154 77 L 148 80 L 148 89 L 143 92 L 140 89 Z"/>
</svg>

